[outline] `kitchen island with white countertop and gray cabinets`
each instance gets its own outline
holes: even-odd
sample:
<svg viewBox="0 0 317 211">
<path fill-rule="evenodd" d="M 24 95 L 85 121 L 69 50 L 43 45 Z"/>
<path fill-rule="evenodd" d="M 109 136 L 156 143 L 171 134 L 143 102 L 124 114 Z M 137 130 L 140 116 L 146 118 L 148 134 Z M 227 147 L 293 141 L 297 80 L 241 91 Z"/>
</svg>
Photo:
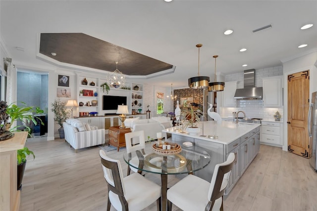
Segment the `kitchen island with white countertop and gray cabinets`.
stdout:
<svg viewBox="0 0 317 211">
<path fill-rule="evenodd" d="M 215 121 L 200 122 L 204 128 L 197 135 L 182 133 L 177 126 L 164 129 L 163 132 L 172 134 L 172 142 L 182 146 L 184 150 L 197 150 L 195 146 L 203 148 L 211 156 L 210 164 L 194 174 L 208 182 L 211 182 L 214 166 L 224 162 L 230 153 L 235 154 L 235 161 L 229 178 L 229 184 L 225 194 L 228 194 L 240 176 L 247 169 L 260 150 L 261 124 L 238 123 L 222 121 L 217 125 Z M 203 134 L 204 131 L 204 134 Z M 218 139 L 211 139 L 214 134 Z M 184 142 L 192 142 L 193 147 L 185 147 Z M 199 160 L 197 160 L 199 162 Z M 186 175 L 180 174 L 179 177 Z"/>
</svg>

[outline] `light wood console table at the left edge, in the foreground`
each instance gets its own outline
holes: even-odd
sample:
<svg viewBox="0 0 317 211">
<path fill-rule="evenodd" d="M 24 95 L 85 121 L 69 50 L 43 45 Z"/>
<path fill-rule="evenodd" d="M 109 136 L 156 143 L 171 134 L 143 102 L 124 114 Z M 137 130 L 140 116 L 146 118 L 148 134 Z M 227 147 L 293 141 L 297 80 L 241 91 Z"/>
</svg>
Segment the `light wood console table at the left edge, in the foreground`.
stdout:
<svg viewBox="0 0 317 211">
<path fill-rule="evenodd" d="M 17 150 L 25 145 L 28 132 L 15 132 L 0 142 L 0 211 L 18 211 L 21 191 L 17 191 Z"/>
</svg>

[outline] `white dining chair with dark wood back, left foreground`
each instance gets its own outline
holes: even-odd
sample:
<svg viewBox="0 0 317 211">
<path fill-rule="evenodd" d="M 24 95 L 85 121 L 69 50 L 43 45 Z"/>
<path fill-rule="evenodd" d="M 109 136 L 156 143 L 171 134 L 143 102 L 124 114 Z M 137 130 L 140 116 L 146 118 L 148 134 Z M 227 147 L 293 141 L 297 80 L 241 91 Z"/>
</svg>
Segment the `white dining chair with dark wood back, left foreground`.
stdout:
<svg viewBox="0 0 317 211">
<path fill-rule="evenodd" d="M 140 211 L 155 201 L 158 211 L 161 209 L 161 187 L 158 184 L 137 173 L 123 177 L 119 160 L 107 157 L 103 150 L 99 155 L 108 186 L 107 211 L 111 205 L 117 211 Z"/>
</svg>

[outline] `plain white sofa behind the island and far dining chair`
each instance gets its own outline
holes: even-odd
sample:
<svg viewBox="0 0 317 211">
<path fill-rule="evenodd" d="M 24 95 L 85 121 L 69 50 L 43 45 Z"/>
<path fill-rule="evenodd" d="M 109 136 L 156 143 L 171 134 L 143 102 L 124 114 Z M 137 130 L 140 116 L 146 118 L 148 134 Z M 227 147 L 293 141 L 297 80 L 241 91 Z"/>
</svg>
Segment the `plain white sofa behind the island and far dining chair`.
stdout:
<svg viewBox="0 0 317 211">
<path fill-rule="evenodd" d="M 165 116 L 155 116 L 151 119 L 139 119 L 137 118 L 130 118 L 124 121 L 126 127 L 130 127 L 131 131 L 144 131 L 145 140 L 150 139 L 157 139 L 157 133 L 161 132 L 162 137 L 167 139 L 167 135 L 162 132 L 163 129 L 172 127 L 172 120 L 169 117 Z M 132 140 L 132 143 L 138 143 L 137 140 Z"/>
</svg>

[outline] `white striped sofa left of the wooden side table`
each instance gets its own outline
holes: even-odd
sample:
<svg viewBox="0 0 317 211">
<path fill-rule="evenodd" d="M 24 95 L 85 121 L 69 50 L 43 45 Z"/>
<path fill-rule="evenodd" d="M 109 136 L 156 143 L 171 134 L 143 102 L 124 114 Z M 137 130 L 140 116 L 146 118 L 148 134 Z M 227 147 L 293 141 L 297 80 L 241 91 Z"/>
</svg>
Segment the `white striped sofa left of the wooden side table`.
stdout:
<svg viewBox="0 0 317 211">
<path fill-rule="evenodd" d="M 90 126 L 79 119 L 66 119 L 63 122 L 65 140 L 75 149 L 105 144 L 105 129 Z"/>
</svg>

